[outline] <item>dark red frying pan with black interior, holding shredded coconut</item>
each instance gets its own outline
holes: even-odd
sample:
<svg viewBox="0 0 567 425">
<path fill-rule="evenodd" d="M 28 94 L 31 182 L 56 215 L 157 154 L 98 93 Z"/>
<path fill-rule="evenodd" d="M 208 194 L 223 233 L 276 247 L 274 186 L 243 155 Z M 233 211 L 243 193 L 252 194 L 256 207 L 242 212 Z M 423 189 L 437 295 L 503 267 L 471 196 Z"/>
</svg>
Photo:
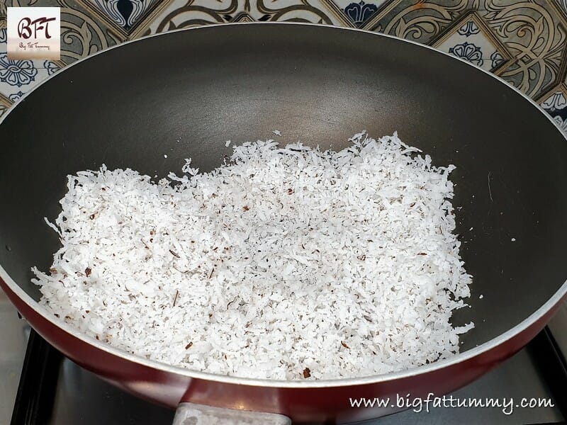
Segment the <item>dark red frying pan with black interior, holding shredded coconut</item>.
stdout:
<svg viewBox="0 0 567 425">
<path fill-rule="evenodd" d="M 30 267 L 47 270 L 59 247 L 43 219 L 60 212 L 67 174 L 106 164 L 162 177 L 187 157 L 207 171 L 230 153 L 225 140 L 265 139 L 274 129 L 282 142 L 335 149 L 364 129 L 373 136 L 397 130 L 435 164 L 456 165 L 456 232 L 473 284 L 471 308 L 452 321 L 476 323 L 461 336 L 459 355 L 366 378 L 235 378 L 138 358 L 38 305 Z M 391 414 L 398 407 L 354 408 L 349 399 L 451 392 L 527 344 L 567 292 L 565 137 L 519 91 L 412 42 L 295 23 L 157 35 L 40 84 L 6 115 L 0 140 L 1 287 L 79 365 L 153 402 L 181 403 L 179 424 L 228 417 L 344 423 Z"/>
</svg>

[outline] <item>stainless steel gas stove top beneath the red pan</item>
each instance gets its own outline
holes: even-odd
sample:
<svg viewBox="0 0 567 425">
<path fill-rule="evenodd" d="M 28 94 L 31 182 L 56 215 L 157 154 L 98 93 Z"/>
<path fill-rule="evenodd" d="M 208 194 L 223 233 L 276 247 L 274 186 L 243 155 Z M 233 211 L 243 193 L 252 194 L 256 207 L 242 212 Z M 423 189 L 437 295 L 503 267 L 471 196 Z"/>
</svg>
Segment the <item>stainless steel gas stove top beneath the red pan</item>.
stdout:
<svg viewBox="0 0 567 425">
<path fill-rule="evenodd" d="M 26 351 L 19 365 L 17 359 L 0 357 L 4 361 L 0 363 L 1 373 L 8 373 L 2 380 L 6 394 L 4 404 L 0 404 L 0 424 L 172 423 L 172 410 L 118 390 L 64 358 L 24 320 L 18 320 L 11 306 L 4 307 L 0 310 L 0 331 L 4 336 L 0 355 L 13 356 L 14 344 L 25 344 Z M 19 331 L 15 330 L 18 327 Z M 461 400 L 513 399 L 515 404 L 522 399 L 549 399 L 553 407 L 514 407 L 511 414 L 504 413 L 502 407 L 430 407 L 429 412 L 423 407 L 422 412 L 408 409 L 359 424 L 565 424 L 566 388 L 565 357 L 546 328 L 522 351 L 451 396 Z"/>
</svg>

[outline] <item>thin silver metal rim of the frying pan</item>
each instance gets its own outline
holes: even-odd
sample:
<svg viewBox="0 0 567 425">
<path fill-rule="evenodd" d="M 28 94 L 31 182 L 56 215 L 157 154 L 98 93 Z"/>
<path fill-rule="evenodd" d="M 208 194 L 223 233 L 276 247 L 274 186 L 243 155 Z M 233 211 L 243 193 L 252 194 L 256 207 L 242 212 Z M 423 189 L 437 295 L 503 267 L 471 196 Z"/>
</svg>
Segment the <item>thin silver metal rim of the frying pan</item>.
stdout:
<svg viewBox="0 0 567 425">
<path fill-rule="evenodd" d="M 215 27 L 221 27 L 221 26 L 254 26 L 254 25 L 263 25 L 263 26 L 277 26 L 277 25 L 283 26 L 283 25 L 286 25 L 286 26 L 307 26 L 307 27 L 310 26 L 310 27 L 328 28 L 328 30 L 334 30 L 334 31 L 345 31 L 345 32 L 356 31 L 356 32 L 360 32 L 360 33 L 371 34 L 371 35 L 376 36 L 376 37 L 391 38 L 391 39 L 399 40 L 400 42 L 407 42 L 407 43 L 410 43 L 412 45 L 416 45 L 417 47 L 422 47 L 422 48 L 426 48 L 428 50 L 432 50 L 433 52 L 436 52 L 439 55 L 444 55 L 446 57 L 449 57 L 451 60 L 457 60 L 459 62 L 466 64 L 469 67 L 473 67 L 474 69 L 478 70 L 479 72 L 483 72 L 484 74 L 488 74 L 490 77 L 492 77 L 496 81 L 500 82 L 500 84 L 503 84 L 504 86 L 506 86 L 507 89 L 512 89 L 512 91 L 515 91 L 517 94 L 520 94 L 520 96 L 522 96 L 525 100 L 529 101 L 529 103 L 531 103 L 532 106 L 535 106 L 539 110 L 540 113 L 543 113 L 546 116 L 546 118 L 549 119 L 549 121 L 552 123 L 552 125 L 554 125 L 556 130 L 558 130 L 558 132 L 561 135 L 563 135 L 563 138 L 566 139 L 566 142 L 567 142 L 567 135 L 565 135 L 563 133 L 563 131 L 559 127 L 558 123 L 556 123 L 556 121 L 553 118 L 551 118 L 551 116 L 549 114 L 547 114 L 532 98 L 529 98 L 524 93 L 522 93 L 522 91 L 515 88 L 514 86 L 507 84 L 503 79 L 500 79 L 495 74 L 492 74 L 491 72 L 488 72 L 488 71 L 485 71 L 484 69 L 476 67 L 475 65 L 471 64 L 470 62 L 468 62 L 466 60 L 461 59 L 460 57 L 455 57 L 453 55 L 450 55 L 449 53 L 437 50 L 434 47 L 431 47 L 431 46 L 428 46 L 428 45 L 423 45 L 423 44 L 416 42 L 416 41 L 398 38 L 398 37 L 395 37 L 393 35 L 388 35 L 388 34 L 383 34 L 383 33 L 375 33 L 375 32 L 370 31 L 370 30 L 362 30 L 362 29 L 359 29 L 359 28 L 344 28 L 344 27 L 329 26 L 329 25 L 318 24 L 318 23 L 296 23 L 296 22 L 217 23 L 217 24 L 210 24 L 210 25 L 206 25 L 206 26 L 198 26 L 198 27 L 193 27 L 193 28 L 180 28 L 180 29 L 177 29 L 177 30 L 170 30 L 170 31 L 167 31 L 167 32 L 164 32 L 164 33 L 157 33 L 157 34 L 148 35 L 146 37 L 137 38 L 136 40 L 128 40 L 128 41 L 122 42 L 118 45 L 108 47 L 105 50 L 101 50 L 100 52 L 96 52 L 94 55 L 89 55 L 87 57 L 84 57 L 80 60 L 73 62 L 72 64 L 67 65 L 60 72 L 64 72 L 65 70 L 69 69 L 70 67 L 73 67 L 75 64 L 79 64 L 80 62 L 83 62 L 84 60 L 89 60 L 91 57 L 96 57 L 97 55 L 103 55 L 105 52 L 108 52 L 109 50 L 113 50 L 115 48 L 121 47 L 123 45 L 128 45 L 128 44 L 133 43 L 133 42 L 140 42 L 141 40 L 145 40 L 147 38 L 155 38 L 155 37 L 159 37 L 160 35 L 167 35 L 169 33 L 178 33 L 178 32 L 181 32 L 181 31 L 207 30 L 208 28 L 215 28 Z M 38 89 L 38 87 L 43 86 L 43 84 L 45 84 L 47 81 L 49 81 L 53 77 L 56 77 L 57 75 L 59 75 L 60 72 L 56 72 L 55 74 L 52 74 L 51 76 L 47 77 L 45 80 L 40 82 L 40 84 L 33 87 L 33 89 L 31 89 L 24 96 L 22 96 L 18 100 L 18 102 L 15 103 L 13 106 L 11 106 L 11 108 L 9 108 L 9 111 L 7 111 L 4 114 L 4 116 L 2 116 L 0 118 L 0 125 L 4 122 L 6 117 L 8 117 L 9 114 L 18 107 L 19 103 L 25 101 L 26 98 L 30 94 L 32 94 L 33 91 L 35 91 L 35 89 Z M 43 319 L 47 320 L 48 322 L 53 324 L 55 327 L 61 329 L 62 331 L 67 332 L 67 334 L 74 336 L 75 338 L 79 339 L 80 341 L 82 341 L 86 344 L 89 344 L 90 346 L 94 346 L 94 347 L 96 347 L 96 348 L 98 348 L 102 351 L 106 351 L 106 353 L 109 353 L 112 356 L 116 356 L 118 358 L 123 358 L 126 361 L 137 363 L 137 364 L 145 366 L 147 368 L 160 370 L 160 371 L 165 372 L 165 373 L 172 373 L 174 375 L 181 375 L 181 376 L 184 376 L 186 378 L 208 380 L 208 381 L 214 381 L 214 382 L 220 382 L 220 383 L 232 384 L 232 385 L 249 385 L 249 386 L 257 386 L 257 387 L 280 387 L 280 388 L 302 388 L 302 389 L 325 388 L 325 387 L 347 387 L 347 386 L 376 384 L 378 382 L 389 382 L 389 381 L 393 381 L 393 380 L 401 380 L 401 379 L 404 379 L 404 378 L 415 377 L 417 375 L 425 375 L 426 373 L 432 373 L 436 370 L 440 370 L 442 368 L 447 368 L 447 367 L 449 367 L 451 365 L 455 365 L 457 363 L 462 363 L 464 361 L 468 361 L 471 358 L 474 358 L 476 356 L 480 356 L 481 354 L 486 353 L 486 352 L 492 350 L 493 348 L 495 348 L 497 346 L 500 346 L 501 344 L 505 343 L 505 341 L 512 339 L 513 337 L 517 336 L 518 334 L 521 334 L 522 331 L 529 328 L 534 323 L 536 323 L 539 319 L 544 317 L 544 315 L 547 314 L 551 310 L 552 307 L 554 307 L 556 304 L 558 304 L 558 302 L 560 302 L 561 299 L 563 297 L 566 297 L 566 295 L 567 295 L 567 280 L 566 280 L 563 283 L 563 285 L 561 285 L 561 287 L 558 288 L 556 293 L 554 293 L 554 295 L 552 295 L 549 298 L 549 300 L 547 300 L 543 305 L 541 305 L 541 307 L 539 307 L 536 311 L 534 311 L 532 314 L 530 314 L 528 317 L 526 317 L 524 320 L 522 320 L 522 322 L 519 322 L 518 324 L 516 324 L 515 327 L 508 329 L 503 334 L 500 334 L 493 339 L 485 341 L 483 344 L 480 344 L 480 345 L 478 345 L 474 348 L 471 348 L 471 349 L 468 349 L 467 351 L 464 351 L 463 353 L 458 353 L 454 356 L 451 356 L 451 357 L 444 359 L 444 360 L 441 360 L 441 361 L 435 361 L 434 363 L 417 366 L 415 368 L 411 368 L 411 369 L 408 369 L 408 370 L 402 370 L 402 371 L 395 372 L 395 373 L 386 373 L 386 374 L 381 374 L 381 375 L 370 375 L 370 376 L 365 376 L 365 377 L 361 377 L 361 378 L 337 378 L 337 379 L 306 381 L 306 380 L 271 380 L 271 379 L 243 378 L 243 377 L 236 377 L 236 376 L 230 376 L 230 375 L 220 375 L 220 374 L 216 374 L 216 373 L 202 372 L 200 370 L 191 370 L 191 369 L 186 369 L 186 368 L 182 368 L 182 367 L 179 367 L 179 366 L 168 365 L 166 363 L 161 363 L 159 361 L 153 361 L 153 360 L 150 360 L 148 358 L 136 356 L 135 354 L 128 353 L 126 351 L 121 350 L 120 348 L 116 348 L 116 347 L 110 346 L 108 344 L 103 344 L 103 342 L 97 341 L 96 339 L 92 338 L 91 336 L 87 336 L 86 334 L 82 334 L 82 332 L 78 331 L 77 329 L 74 329 L 74 327 L 71 327 L 69 324 L 67 324 L 65 322 L 60 322 L 59 320 L 57 320 L 57 318 L 55 316 L 53 316 L 50 312 L 48 312 L 47 309 L 45 309 L 45 307 L 40 305 L 37 301 L 33 300 L 33 298 L 30 297 L 30 295 L 28 295 L 28 293 L 26 293 L 26 291 L 24 291 L 20 287 L 20 285 L 18 285 L 14 281 L 11 278 L 11 276 L 9 276 L 8 273 L 6 273 L 6 271 L 1 266 L 1 264 L 0 264 L 0 280 L 3 281 L 3 283 L 9 288 L 9 290 L 12 291 L 12 293 L 14 293 L 14 295 L 16 295 L 23 303 L 25 303 L 28 307 L 30 307 L 31 310 L 34 310 L 35 312 L 40 314 L 40 316 Z"/>
</svg>

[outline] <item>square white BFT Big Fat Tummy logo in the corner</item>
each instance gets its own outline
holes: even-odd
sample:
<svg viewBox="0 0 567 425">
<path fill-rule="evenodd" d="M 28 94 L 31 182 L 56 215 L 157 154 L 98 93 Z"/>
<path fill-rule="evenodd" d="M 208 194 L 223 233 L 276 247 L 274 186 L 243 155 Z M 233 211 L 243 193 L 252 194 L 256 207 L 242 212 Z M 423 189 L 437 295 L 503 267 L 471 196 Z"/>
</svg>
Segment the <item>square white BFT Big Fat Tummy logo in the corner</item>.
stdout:
<svg viewBox="0 0 567 425">
<path fill-rule="evenodd" d="M 60 8 L 9 7 L 7 21 L 8 59 L 60 59 Z"/>
</svg>

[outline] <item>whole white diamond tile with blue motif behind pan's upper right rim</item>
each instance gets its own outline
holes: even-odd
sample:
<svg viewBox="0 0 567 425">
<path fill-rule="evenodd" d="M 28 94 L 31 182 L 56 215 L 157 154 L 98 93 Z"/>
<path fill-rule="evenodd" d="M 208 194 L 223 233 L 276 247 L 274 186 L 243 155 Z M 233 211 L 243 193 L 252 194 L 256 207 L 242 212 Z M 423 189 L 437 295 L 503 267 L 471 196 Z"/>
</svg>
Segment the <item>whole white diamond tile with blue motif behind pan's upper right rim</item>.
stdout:
<svg viewBox="0 0 567 425">
<path fill-rule="evenodd" d="M 467 60 L 486 71 L 494 71 L 510 59 L 496 42 L 490 40 L 490 36 L 473 16 L 468 16 L 459 23 L 434 47 Z"/>
</svg>

